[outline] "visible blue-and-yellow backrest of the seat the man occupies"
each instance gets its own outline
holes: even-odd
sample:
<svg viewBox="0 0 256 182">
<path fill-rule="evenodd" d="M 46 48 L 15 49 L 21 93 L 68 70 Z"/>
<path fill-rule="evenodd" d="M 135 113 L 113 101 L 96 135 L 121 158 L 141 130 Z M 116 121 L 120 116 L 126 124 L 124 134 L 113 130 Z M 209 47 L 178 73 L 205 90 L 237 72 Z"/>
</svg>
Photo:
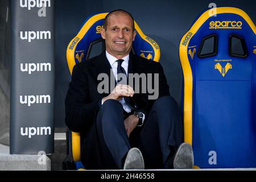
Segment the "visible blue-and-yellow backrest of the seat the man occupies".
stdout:
<svg viewBox="0 0 256 182">
<path fill-rule="evenodd" d="M 101 28 L 103 27 L 105 16 L 108 13 L 99 13 L 89 16 L 82 24 L 79 32 L 68 44 L 67 48 L 67 62 L 69 71 L 72 75 L 72 70 L 75 64 L 86 61 L 92 56 L 94 52 L 99 50 L 97 44 L 101 44 L 100 53 L 105 50 L 104 40 L 101 38 Z M 137 35 L 133 42 L 133 52 L 135 55 L 145 57 L 148 60 L 159 61 L 160 59 L 160 48 L 155 40 L 144 35 L 141 28 L 134 21 L 135 30 Z M 80 154 L 80 134 L 69 131 L 69 155 L 72 155 L 73 161 L 77 162 L 77 168 L 81 167 Z"/>
</svg>

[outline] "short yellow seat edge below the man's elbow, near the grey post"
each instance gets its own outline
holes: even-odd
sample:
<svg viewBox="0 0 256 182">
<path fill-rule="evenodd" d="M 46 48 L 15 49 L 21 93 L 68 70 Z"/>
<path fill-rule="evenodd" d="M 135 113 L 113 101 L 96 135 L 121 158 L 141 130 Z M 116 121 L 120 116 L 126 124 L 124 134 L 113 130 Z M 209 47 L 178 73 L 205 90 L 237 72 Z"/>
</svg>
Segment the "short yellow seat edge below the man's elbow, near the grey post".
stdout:
<svg viewBox="0 0 256 182">
<path fill-rule="evenodd" d="M 72 131 L 72 154 L 75 162 L 81 159 L 80 133 Z"/>
</svg>

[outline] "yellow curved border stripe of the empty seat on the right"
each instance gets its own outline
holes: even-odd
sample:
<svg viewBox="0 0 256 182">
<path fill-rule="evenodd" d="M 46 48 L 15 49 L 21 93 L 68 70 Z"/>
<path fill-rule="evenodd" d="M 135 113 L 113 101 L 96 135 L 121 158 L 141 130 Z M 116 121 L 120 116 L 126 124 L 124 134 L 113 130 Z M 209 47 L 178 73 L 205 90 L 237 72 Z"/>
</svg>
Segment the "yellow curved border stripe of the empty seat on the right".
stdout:
<svg viewBox="0 0 256 182">
<path fill-rule="evenodd" d="M 210 13 L 209 13 L 210 11 Z M 188 44 L 192 37 L 196 34 L 199 28 L 202 26 L 204 22 L 206 22 L 212 15 L 212 12 L 216 12 L 217 14 L 223 13 L 232 13 L 242 16 L 243 19 L 249 24 L 251 29 L 253 30 L 254 34 L 256 34 L 256 27 L 250 17 L 245 13 L 245 11 L 241 9 L 237 9 L 235 7 L 217 7 L 214 9 L 210 9 L 205 11 L 199 19 L 193 24 L 190 30 L 183 36 L 180 42 L 180 61 L 181 67 L 184 73 L 184 142 L 190 143 L 192 145 L 192 90 L 193 90 L 193 77 L 192 77 L 192 70 L 188 60 Z M 189 33 L 190 32 L 190 33 Z M 187 37 L 188 34 L 189 39 Z M 187 44 L 183 45 L 185 38 L 188 39 Z"/>
</svg>

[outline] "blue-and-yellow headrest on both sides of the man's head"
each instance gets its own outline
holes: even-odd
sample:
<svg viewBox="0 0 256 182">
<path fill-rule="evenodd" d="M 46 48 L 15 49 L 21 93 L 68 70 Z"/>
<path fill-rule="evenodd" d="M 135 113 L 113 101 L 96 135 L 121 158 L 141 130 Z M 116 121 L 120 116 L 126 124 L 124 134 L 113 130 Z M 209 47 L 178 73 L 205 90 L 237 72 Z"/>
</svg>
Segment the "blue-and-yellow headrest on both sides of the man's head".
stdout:
<svg viewBox="0 0 256 182">
<path fill-rule="evenodd" d="M 100 31 L 107 14 L 99 13 L 89 16 L 82 24 L 78 34 L 68 44 L 67 61 L 71 73 L 75 64 L 88 59 L 92 45 L 102 40 Z M 158 44 L 153 39 L 144 35 L 135 21 L 134 26 L 137 31 L 133 42 L 135 55 L 145 57 L 148 60 L 159 61 L 160 48 Z"/>
</svg>

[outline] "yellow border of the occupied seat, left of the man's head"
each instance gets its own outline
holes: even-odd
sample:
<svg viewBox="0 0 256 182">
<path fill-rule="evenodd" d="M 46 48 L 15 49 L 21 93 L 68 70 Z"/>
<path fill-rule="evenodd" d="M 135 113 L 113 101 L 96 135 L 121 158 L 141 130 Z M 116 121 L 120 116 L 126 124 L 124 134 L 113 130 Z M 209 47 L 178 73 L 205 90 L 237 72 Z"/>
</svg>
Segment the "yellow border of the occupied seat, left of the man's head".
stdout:
<svg viewBox="0 0 256 182">
<path fill-rule="evenodd" d="M 104 19 L 106 17 L 108 13 L 101 13 L 98 15 L 94 15 L 92 16 L 92 18 L 90 18 L 85 24 L 84 26 L 82 26 L 81 30 L 79 31 L 79 33 L 76 35 L 75 38 L 73 38 L 71 40 L 71 42 L 68 44 L 68 49 L 67 49 L 67 61 L 68 61 L 68 68 L 69 68 L 69 72 L 72 75 L 72 71 L 73 71 L 73 67 L 76 64 L 75 61 L 75 50 L 76 50 L 76 46 L 77 44 L 80 42 L 80 40 L 84 37 L 84 35 L 86 34 L 86 32 L 88 32 L 88 30 L 90 29 L 90 27 L 93 26 L 93 24 L 95 22 L 97 22 L 98 20 Z M 69 47 L 72 45 L 73 41 L 75 39 L 79 38 L 79 40 L 77 41 L 76 45 L 73 47 L 73 49 L 69 49 Z"/>
</svg>

